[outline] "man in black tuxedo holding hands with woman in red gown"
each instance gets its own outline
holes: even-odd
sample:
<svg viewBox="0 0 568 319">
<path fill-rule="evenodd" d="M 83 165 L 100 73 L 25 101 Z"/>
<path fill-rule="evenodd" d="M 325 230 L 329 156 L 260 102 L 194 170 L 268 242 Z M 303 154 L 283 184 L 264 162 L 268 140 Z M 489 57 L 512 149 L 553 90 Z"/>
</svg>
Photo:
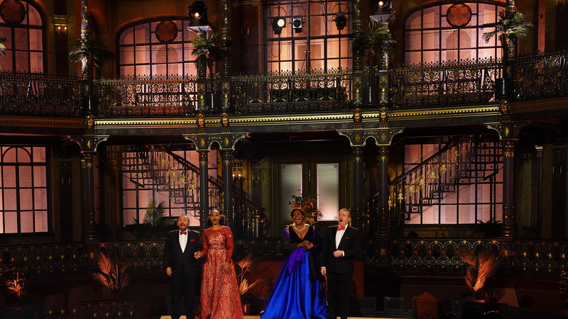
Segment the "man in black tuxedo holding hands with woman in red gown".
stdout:
<svg viewBox="0 0 568 319">
<path fill-rule="evenodd" d="M 165 273 L 172 277 L 172 319 L 180 318 L 182 297 L 185 299 L 185 316 L 195 318 L 195 277 L 201 257 L 199 233 L 187 229 L 190 218 L 178 217 L 178 230 L 168 233 L 164 247 Z"/>
</svg>

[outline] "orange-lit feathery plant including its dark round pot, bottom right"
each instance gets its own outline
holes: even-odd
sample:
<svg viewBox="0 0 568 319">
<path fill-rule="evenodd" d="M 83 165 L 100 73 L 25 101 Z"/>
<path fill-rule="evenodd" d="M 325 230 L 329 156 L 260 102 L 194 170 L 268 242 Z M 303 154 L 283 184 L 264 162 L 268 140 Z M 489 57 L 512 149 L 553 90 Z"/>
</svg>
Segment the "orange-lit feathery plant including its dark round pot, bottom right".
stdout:
<svg viewBox="0 0 568 319">
<path fill-rule="evenodd" d="M 484 298 L 485 284 L 498 269 L 501 260 L 498 252 L 479 246 L 475 252 L 460 254 L 466 264 L 466 284 L 471 298 L 464 299 L 464 319 L 499 318 L 499 306 L 495 299 Z"/>
</svg>

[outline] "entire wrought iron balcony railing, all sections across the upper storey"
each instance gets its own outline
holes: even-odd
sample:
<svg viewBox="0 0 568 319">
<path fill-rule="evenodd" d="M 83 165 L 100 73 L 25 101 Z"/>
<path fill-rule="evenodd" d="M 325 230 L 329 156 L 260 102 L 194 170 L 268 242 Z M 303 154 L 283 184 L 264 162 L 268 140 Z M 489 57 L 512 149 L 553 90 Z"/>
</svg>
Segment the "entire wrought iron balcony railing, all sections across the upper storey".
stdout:
<svg viewBox="0 0 568 319">
<path fill-rule="evenodd" d="M 516 99 L 566 96 L 567 57 L 567 51 L 519 57 Z M 503 65 L 465 60 L 395 67 L 388 74 L 392 108 L 476 106 L 496 103 L 495 83 L 503 76 Z M 233 76 L 229 112 L 350 112 L 353 79 L 349 69 Z M 209 85 L 219 91 L 218 78 Z M 197 111 L 196 77 L 97 79 L 94 94 L 101 118 L 195 116 Z M 80 116 L 80 79 L 0 72 L 0 114 Z"/>
</svg>

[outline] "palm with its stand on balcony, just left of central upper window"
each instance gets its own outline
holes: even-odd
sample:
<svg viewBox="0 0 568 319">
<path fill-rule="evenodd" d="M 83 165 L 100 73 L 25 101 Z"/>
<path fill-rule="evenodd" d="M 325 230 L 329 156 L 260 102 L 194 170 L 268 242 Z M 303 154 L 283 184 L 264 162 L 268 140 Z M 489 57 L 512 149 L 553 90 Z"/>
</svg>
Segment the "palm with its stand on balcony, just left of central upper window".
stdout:
<svg viewBox="0 0 568 319">
<path fill-rule="evenodd" d="M 193 39 L 191 43 L 195 46 L 191 53 L 197 56 L 197 60 L 195 60 L 197 69 L 200 69 L 200 67 L 209 69 L 209 88 L 205 94 L 205 103 L 210 110 L 219 108 L 219 96 L 213 93 L 215 77 L 213 65 L 224 57 L 224 51 L 219 43 L 219 34 L 209 35 L 209 33 L 205 33 L 204 36 Z M 202 65 L 203 63 L 205 65 Z"/>
</svg>

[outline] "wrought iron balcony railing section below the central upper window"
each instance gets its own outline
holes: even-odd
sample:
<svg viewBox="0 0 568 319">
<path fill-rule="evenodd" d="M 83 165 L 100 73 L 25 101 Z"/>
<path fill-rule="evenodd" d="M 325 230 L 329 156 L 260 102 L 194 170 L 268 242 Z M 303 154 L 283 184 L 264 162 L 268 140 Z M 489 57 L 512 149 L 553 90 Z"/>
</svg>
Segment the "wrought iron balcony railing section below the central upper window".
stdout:
<svg viewBox="0 0 568 319">
<path fill-rule="evenodd" d="M 233 77 L 234 112 L 295 113 L 349 109 L 351 71 L 329 70 Z"/>
</svg>

